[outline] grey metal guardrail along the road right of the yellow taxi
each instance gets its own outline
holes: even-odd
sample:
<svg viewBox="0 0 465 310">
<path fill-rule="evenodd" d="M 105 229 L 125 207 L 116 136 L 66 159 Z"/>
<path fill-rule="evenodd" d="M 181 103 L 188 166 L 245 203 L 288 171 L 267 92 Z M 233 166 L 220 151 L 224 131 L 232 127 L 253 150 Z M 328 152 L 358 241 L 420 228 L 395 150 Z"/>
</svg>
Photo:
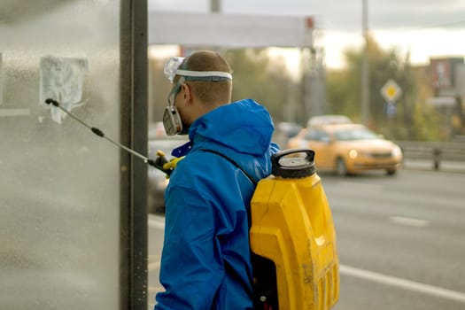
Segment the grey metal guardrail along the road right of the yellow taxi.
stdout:
<svg viewBox="0 0 465 310">
<path fill-rule="evenodd" d="M 405 160 L 427 160 L 433 170 L 440 170 L 444 163 L 465 165 L 465 142 L 396 141 Z"/>
</svg>

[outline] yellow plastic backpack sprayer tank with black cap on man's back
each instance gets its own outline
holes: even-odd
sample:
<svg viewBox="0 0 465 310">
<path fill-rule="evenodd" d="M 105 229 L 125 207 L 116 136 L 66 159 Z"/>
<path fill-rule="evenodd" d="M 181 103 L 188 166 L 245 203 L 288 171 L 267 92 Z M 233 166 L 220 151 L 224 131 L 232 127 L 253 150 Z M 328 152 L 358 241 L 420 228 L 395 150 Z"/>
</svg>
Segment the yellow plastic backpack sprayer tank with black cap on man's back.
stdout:
<svg viewBox="0 0 465 310">
<path fill-rule="evenodd" d="M 267 310 L 330 309 L 339 297 L 339 261 L 314 151 L 279 151 L 272 164 L 251 204 L 256 294 Z"/>
</svg>

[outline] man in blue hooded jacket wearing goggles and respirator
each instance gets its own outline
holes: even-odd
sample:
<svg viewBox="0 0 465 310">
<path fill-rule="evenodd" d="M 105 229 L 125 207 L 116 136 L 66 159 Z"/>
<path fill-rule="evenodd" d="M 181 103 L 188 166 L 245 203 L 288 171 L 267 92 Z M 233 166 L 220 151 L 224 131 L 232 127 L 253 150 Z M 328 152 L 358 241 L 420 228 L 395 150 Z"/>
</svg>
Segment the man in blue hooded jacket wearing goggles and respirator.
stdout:
<svg viewBox="0 0 465 310">
<path fill-rule="evenodd" d="M 173 151 L 156 310 L 252 309 L 249 245 L 254 182 L 271 173 L 273 121 L 252 99 L 231 103 L 229 64 L 213 51 L 172 58 L 164 115 L 168 135 L 189 134 Z"/>
</svg>

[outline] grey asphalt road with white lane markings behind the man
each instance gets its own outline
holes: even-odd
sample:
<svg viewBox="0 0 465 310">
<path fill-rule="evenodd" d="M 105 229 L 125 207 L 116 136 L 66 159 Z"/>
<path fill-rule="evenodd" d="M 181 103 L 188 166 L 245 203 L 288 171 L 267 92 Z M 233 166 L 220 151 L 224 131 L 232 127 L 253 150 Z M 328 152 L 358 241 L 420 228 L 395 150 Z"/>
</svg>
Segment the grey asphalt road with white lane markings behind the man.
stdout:
<svg viewBox="0 0 465 310">
<path fill-rule="evenodd" d="M 337 229 L 335 310 L 465 309 L 465 174 L 320 174 Z M 163 218 L 149 220 L 149 308 Z"/>
</svg>

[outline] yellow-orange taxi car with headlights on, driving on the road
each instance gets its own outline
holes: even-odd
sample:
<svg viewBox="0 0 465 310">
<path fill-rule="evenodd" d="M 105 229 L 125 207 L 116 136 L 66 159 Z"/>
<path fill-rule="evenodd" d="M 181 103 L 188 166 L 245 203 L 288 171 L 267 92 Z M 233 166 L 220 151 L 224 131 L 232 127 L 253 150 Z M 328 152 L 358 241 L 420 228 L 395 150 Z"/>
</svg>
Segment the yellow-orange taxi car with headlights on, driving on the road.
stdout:
<svg viewBox="0 0 465 310">
<path fill-rule="evenodd" d="M 287 144 L 289 149 L 315 151 L 315 165 L 337 175 L 364 170 L 385 170 L 392 175 L 402 163 L 402 151 L 361 124 L 330 123 L 302 129 Z"/>
</svg>

